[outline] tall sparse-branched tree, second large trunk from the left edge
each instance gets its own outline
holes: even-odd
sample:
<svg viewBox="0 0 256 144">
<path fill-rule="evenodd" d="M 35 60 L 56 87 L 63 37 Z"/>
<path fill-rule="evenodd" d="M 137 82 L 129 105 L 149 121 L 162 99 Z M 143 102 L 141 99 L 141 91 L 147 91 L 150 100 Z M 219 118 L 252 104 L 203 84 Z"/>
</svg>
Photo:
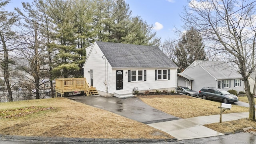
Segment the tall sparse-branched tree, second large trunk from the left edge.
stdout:
<svg viewBox="0 0 256 144">
<path fill-rule="evenodd" d="M 21 25 L 20 42 L 22 44 L 22 56 L 28 62 L 23 66 L 23 70 L 29 75 L 26 75 L 26 79 L 31 84 L 34 84 L 36 90 L 36 99 L 40 98 L 40 86 L 43 84 L 42 80 L 47 73 L 46 66 L 46 39 L 42 36 L 40 28 L 40 20 L 42 16 L 34 15 L 36 9 L 29 3 L 22 2 L 24 13 L 19 8 L 15 10 L 22 16 L 24 22 Z M 30 90 L 31 92 L 31 90 Z"/>
</svg>

